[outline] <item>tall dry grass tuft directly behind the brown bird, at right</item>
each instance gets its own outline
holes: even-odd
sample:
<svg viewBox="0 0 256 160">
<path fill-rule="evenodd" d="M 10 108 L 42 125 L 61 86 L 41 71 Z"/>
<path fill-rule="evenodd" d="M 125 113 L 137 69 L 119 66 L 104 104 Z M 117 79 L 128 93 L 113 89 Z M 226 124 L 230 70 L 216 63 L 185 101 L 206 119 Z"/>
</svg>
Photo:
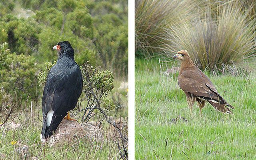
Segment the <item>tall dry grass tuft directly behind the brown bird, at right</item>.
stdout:
<svg viewBox="0 0 256 160">
<path fill-rule="evenodd" d="M 171 50 L 188 50 L 200 69 L 240 62 L 253 52 L 255 20 L 248 20 L 248 12 L 240 12 L 238 3 L 218 9 L 216 17 L 209 10 L 204 17 L 173 27 L 169 33 Z"/>
</svg>

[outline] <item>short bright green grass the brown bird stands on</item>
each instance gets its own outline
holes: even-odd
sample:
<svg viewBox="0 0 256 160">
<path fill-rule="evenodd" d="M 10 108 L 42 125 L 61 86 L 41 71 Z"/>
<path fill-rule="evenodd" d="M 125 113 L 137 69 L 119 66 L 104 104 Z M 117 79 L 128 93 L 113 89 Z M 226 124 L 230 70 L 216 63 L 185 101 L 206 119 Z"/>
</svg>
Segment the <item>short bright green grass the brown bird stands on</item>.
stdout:
<svg viewBox="0 0 256 160">
<path fill-rule="evenodd" d="M 135 157 L 161 160 L 256 159 L 256 76 L 211 76 L 218 92 L 234 106 L 234 116 L 210 104 L 192 114 L 177 77 L 162 74 L 158 60 L 138 60 L 135 68 Z M 169 68 L 172 64 L 167 65 Z M 252 72 L 253 73 L 253 72 Z M 174 123 L 173 118 L 181 116 Z"/>
</svg>

